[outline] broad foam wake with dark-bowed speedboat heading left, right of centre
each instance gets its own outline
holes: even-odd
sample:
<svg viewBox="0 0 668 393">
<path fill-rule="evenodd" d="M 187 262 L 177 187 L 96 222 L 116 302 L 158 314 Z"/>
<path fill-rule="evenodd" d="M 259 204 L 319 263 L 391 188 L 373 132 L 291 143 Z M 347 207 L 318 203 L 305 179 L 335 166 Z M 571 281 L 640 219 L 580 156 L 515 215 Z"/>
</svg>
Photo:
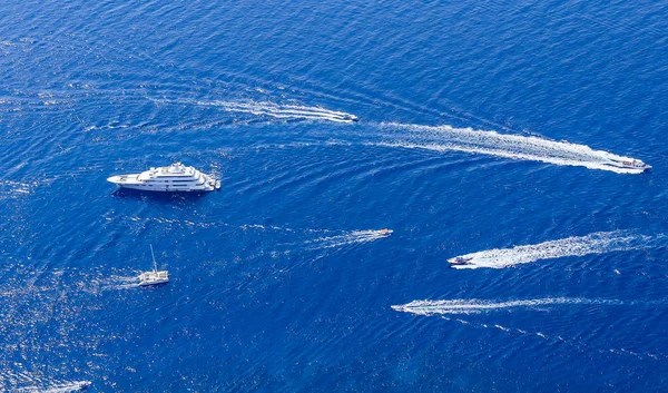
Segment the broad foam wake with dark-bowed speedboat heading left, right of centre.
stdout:
<svg viewBox="0 0 668 393">
<path fill-rule="evenodd" d="M 454 262 L 458 258 L 466 261 L 464 265 L 452 265 L 452 267 L 459 269 L 479 267 L 503 268 L 539 259 L 646 248 L 649 246 L 651 239 L 654 239 L 651 236 L 630 235 L 621 230 L 598 232 L 587 236 L 567 237 L 534 245 L 488 249 L 460 255 L 448 261 Z"/>
</svg>

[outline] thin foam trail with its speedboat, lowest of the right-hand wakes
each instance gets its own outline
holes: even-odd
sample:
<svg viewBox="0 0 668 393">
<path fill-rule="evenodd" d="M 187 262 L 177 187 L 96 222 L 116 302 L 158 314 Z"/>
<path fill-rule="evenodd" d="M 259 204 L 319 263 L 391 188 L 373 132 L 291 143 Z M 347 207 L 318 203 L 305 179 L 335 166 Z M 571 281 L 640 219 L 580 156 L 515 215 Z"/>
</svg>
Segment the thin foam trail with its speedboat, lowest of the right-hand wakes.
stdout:
<svg viewBox="0 0 668 393">
<path fill-rule="evenodd" d="M 413 301 L 403 305 L 394 305 L 392 310 L 415 315 L 434 314 L 480 314 L 483 312 L 508 308 L 536 308 L 560 304 L 621 304 L 618 301 L 588 299 L 579 297 L 547 297 L 528 301 L 510 301 L 493 303 L 481 299 L 453 301 Z"/>
</svg>

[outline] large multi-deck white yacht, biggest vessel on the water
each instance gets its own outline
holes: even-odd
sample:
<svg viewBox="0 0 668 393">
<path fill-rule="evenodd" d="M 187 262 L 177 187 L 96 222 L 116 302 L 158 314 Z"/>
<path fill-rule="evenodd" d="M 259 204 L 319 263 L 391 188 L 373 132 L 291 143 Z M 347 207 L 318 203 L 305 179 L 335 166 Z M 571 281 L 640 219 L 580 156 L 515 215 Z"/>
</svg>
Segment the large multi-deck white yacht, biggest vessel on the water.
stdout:
<svg viewBox="0 0 668 393">
<path fill-rule="evenodd" d="M 107 179 L 122 188 L 145 191 L 213 191 L 220 180 L 199 170 L 174 163 L 168 167 L 150 168 L 140 174 L 111 176 Z"/>
</svg>

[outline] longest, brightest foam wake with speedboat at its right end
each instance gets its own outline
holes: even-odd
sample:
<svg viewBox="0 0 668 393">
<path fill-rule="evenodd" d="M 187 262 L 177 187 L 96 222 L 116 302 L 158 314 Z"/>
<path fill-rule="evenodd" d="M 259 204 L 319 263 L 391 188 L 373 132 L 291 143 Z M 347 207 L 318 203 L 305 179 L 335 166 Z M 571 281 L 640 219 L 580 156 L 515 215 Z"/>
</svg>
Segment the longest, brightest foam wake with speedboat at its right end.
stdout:
<svg viewBox="0 0 668 393">
<path fill-rule="evenodd" d="M 426 149 L 434 151 L 464 151 L 518 160 L 541 161 L 554 165 L 582 166 L 589 169 L 610 170 L 617 174 L 640 174 L 646 168 L 625 166 L 638 159 L 593 150 L 586 145 L 554 141 L 534 136 L 499 134 L 497 131 L 453 128 L 450 126 L 418 126 L 382 124 L 381 127 L 409 130 L 411 134 L 391 143 L 376 146 Z"/>
</svg>

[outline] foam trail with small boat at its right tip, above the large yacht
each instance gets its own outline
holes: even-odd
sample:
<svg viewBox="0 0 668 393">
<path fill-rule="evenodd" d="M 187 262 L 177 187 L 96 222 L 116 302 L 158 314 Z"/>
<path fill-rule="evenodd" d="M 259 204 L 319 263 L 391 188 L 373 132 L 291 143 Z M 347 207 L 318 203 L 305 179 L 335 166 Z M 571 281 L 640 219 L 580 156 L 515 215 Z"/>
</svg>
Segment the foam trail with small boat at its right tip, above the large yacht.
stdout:
<svg viewBox="0 0 668 393">
<path fill-rule="evenodd" d="M 357 120 L 356 116 L 343 111 L 301 105 L 282 105 L 271 101 L 177 100 L 176 102 L 216 107 L 229 112 L 267 116 L 277 119 L 326 120 L 336 122 L 353 122 Z"/>
</svg>

